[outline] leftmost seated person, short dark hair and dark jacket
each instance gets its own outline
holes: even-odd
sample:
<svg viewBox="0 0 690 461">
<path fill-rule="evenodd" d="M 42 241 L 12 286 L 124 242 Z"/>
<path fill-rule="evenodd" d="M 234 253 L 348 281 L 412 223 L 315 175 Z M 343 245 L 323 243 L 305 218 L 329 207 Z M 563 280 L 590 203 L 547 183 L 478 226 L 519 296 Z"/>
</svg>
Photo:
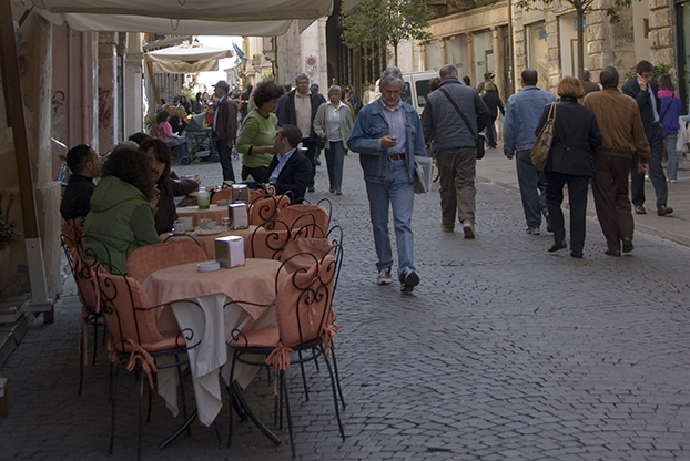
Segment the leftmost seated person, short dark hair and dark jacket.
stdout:
<svg viewBox="0 0 690 461">
<path fill-rule="evenodd" d="M 93 148 L 88 144 L 79 144 L 67 153 L 67 166 L 72 175 L 62 196 L 60 214 L 65 221 L 87 217 L 91 194 L 95 188 L 93 178 L 101 171 L 101 162 Z"/>
</svg>

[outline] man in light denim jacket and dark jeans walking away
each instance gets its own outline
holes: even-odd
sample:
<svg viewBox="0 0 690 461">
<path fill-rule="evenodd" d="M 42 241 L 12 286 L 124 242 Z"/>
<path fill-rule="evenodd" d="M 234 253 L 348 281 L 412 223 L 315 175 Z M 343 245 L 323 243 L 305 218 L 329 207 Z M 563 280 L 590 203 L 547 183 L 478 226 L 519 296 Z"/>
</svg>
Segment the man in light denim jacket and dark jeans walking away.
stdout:
<svg viewBox="0 0 690 461">
<path fill-rule="evenodd" d="M 537 79 L 537 71 L 534 69 L 527 68 L 522 71 L 522 90 L 508 98 L 504 120 L 504 154 L 508 158 L 517 155 L 516 168 L 527 222 L 526 232 L 535 235 L 539 235 L 541 213 L 547 218 L 547 230 L 550 229 L 546 209 L 546 178 L 544 172 L 537 171 L 532 165 L 530 153 L 537 141 L 535 130 L 544 107 L 556 101 L 551 93 L 536 86 Z"/>
</svg>

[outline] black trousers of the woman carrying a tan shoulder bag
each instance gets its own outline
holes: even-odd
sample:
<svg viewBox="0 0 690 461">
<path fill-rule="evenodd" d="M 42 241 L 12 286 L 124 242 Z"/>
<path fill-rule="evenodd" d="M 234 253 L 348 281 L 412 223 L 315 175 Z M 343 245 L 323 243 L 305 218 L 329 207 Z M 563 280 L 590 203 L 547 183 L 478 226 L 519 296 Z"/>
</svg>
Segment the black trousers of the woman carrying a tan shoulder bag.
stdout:
<svg viewBox="0 0 690 461">
<path fill-rule="evenodd" d="M 546 206 L 554 229 L 554 240 L 566 239 L 564 212 L 564 185 L 568 184 L 568 199 L 570 204 L 570 250 L 581 252 L 585 247 L 585 232 L 587 227 L 587 186 L 589 176 L 546 172 Z"/>
</svg>

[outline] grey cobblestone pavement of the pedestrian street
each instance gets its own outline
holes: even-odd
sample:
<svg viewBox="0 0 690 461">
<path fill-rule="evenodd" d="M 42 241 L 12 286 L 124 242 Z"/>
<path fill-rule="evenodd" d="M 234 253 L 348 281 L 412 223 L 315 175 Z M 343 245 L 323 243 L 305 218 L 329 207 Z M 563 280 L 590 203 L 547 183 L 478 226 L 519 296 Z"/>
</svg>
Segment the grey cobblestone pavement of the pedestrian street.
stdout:
<svg viewBox="0 0 690 461">
<path fill-rule="evenodd" d="M 439 228 L 438 192 L 417 196 L 414 232 L 422 283 L 375 285 L 374 245 L 357 156 L 345 158 L 334 204 L 345 229 L 335 298 L 338 365 L 347 408 L 338 436 L 324 367 L 307 368 L 311 401 L 291 369 L 296 450 L 302 460 L 664 460 L 690 459 L 690 249 L 643 234 L 630 256 L 607 257 L 588 218 L 585 259 L 552 256 L 550 236 L 526 235 L 518 195 L 477 185 L 477 238 Z M 194 163 L 206 184 L 217 164 Z M 108 457 L 109 365 L 99 346 L 77 396 L 79 305 L 69 279 L 54 325 L 34 321 L 7 360 L 10 416 L 0 419 L 0 460 L 131 460 L 136 393 L 119 387 L 118 433 Z M 93 341 L 90 342 L 92 345 Z M 187 386 L 191 389 L 191 386 Z M 272 381 L 246 391 L 272 421 Z M 191 398 L 190 398 L 191 399 Z M 232 450 L 199 422 L 166 450 L 173 419 L 154 396 L 144 428 L 146 460 L 288 460 L 251 422 L 235 422 Z M 193 404 L 193 403 L 192 403 Z M 225 440 L 227 412 L 217 419 Z"/>
</svg>

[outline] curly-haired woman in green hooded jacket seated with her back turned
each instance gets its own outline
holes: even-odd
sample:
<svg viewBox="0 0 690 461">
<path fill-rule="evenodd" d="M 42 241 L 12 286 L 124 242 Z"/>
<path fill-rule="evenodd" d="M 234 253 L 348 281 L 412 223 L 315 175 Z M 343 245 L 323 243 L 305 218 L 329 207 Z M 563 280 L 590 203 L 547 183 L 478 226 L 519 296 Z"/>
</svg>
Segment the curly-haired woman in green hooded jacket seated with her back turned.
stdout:
<svg viewBox="0 0 690 461">
<path fill-rule="evenodd" d="M 126 274 L 133 250 L 161 243 L 153 219 L 156 204 L 149 158 L 130 148 L 113 151 L 91 196 L 84 258 L 95 259 L 112 274 Z"/>
</svg>

